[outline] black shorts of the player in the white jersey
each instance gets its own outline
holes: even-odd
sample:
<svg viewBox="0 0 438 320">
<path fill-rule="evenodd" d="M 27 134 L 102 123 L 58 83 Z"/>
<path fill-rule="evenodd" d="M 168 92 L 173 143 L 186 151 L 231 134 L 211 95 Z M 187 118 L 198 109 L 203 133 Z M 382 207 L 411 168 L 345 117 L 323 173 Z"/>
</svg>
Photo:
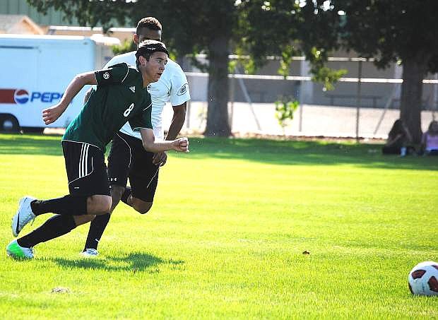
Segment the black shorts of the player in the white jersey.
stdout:
<svg viewBox="0 0 438 320">
<path fill-rule="evenodd" d="M 143 148 L 140 139 L 118 132 L 109 151 L 109 184 L 125 187 L 129 178 L 132 196 L 153 202 L 160 166 L 154 165 L 152 158 L 153 153 Z"/>
</svg>

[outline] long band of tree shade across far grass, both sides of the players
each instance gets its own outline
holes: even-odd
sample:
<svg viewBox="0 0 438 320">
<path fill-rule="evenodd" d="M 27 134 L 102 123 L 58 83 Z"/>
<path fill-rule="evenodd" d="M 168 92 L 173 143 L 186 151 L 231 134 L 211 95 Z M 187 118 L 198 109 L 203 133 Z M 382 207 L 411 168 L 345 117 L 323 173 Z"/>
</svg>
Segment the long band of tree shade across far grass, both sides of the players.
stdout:
<svg viewBox="0 0 438 320">
<path fill-rule="evenodd" d="M 0 134 L 0 155 L 62 155 L 60 141 L 60 136 Z M 247 160 L 273 165 L 350 164 L 388 169 L 438 170 L 438 157 L 400 158 L 397 155 L 382 155 L 381 146 L 332 141 L 191 138 L 189 154 L 172 153 L 172 156 L 196 160 Z"/>
</svg>

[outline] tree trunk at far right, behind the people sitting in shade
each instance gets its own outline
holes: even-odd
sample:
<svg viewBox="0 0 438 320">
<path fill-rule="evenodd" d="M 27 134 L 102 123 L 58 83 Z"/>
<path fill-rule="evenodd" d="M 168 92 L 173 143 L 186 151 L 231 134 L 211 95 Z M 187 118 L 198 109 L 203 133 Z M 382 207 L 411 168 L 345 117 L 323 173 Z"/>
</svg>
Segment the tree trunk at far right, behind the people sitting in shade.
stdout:
<svg viewBox="0 0 438 320">
<path fill-rule="evenodd" d="M 416 54 L 403 59 L 403 84 L 401 85 L 400 119 L 414 143 L 421 141 L 422 79 L 427 72 L 427 54 Z"/>
</svg>

